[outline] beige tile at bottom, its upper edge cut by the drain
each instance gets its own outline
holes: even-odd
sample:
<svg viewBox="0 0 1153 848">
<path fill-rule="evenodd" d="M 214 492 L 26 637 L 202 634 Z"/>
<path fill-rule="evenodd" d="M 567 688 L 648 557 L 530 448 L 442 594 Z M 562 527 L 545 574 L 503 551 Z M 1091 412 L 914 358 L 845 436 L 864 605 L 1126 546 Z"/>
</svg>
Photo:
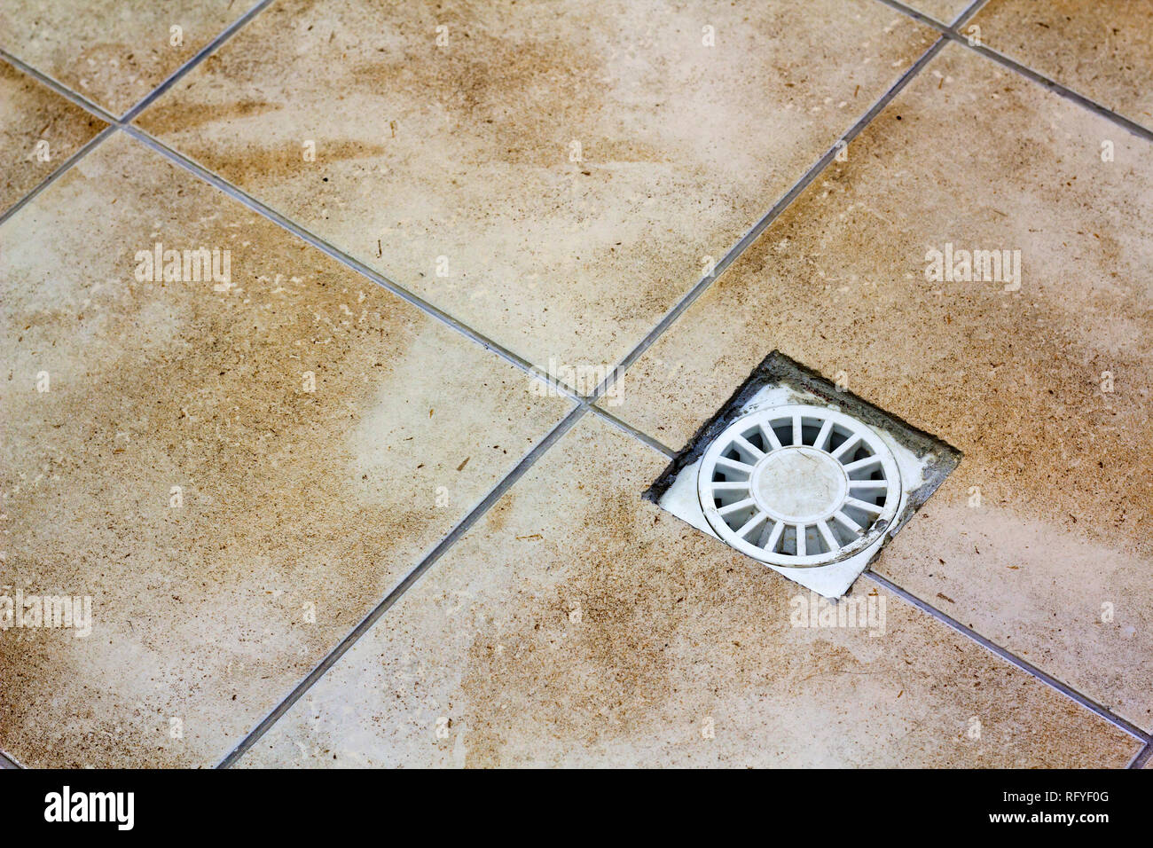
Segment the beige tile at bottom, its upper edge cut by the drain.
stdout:
<svg viewBox="0 0 1153 848">
<path fill-rule="evenodd" d="M 1139 748 L 894 595 L 872 590 L 875 636 L 793 626 L 796 584 L 641 500 L 665 463 L 583 418 L 241 761 L 1120 766 Z"/>
</svg>

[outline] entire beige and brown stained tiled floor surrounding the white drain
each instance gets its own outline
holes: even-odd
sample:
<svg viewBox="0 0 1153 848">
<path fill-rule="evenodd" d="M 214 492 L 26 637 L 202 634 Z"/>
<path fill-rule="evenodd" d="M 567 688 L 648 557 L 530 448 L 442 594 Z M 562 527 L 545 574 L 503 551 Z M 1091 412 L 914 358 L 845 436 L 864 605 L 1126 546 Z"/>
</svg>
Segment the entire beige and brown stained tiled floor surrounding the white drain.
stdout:
<svg viewBox="0 0 1153 848">
<path fill-rule="evenodd" d="M 42 6 L 0 598 L 92 626 L 0 631 L 13 763 L 1143 761 L 1147 14 Z M 964 452 L 875 626 L 641 498 L 773 350 Z"/>
</svg>

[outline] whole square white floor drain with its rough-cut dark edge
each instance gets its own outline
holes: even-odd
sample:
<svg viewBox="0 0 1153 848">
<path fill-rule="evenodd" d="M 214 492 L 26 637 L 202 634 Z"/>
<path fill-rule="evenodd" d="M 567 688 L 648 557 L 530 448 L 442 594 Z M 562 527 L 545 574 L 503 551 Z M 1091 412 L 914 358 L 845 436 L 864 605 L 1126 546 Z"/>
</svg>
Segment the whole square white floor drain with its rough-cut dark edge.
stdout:
<svg viewBox="0 0 1153 848">
<path fill-rule="evenodd" d="M 774 467 L 766 471 L 768 453 Z M 839 598 L 960 459 L 943 440 L 773 351 L 643 496 L 751 560 Z M 817 494 L 782 489 L 779 481 L 806 461 L 826 465 Z M 729 481 L 730 470 L 739 482 Z M 853 472 L 841 490 L 828 494 L 846 470 Z M 821 513 L 822 497 L 836 515 Z M 787 515 L 806 509 L 816 512 Z"/>
</svg>

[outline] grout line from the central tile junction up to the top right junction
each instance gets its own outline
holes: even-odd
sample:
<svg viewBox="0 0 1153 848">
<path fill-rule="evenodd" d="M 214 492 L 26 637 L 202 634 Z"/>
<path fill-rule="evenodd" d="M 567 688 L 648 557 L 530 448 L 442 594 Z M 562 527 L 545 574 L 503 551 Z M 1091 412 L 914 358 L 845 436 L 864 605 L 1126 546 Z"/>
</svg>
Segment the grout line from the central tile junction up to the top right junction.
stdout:
<svg viewBox="0 0 1153 848">
<path fill-rule="evenodd" d="M 809 183 L 813 182 L 813 180 L 815 180 L 822 171 L 824 171 L 824 168 L 828 166 L 830 162 L 832 162 L 832 159 L 841 151 L 841 149 L 846 147 L 853 138 L 856 138 L 865 129 L 865 127 L 867 127 L 873 121 L 873 119 L 876 118 L 876 115 L 880 114 L 881 111 L 889 105 L 889 102 L 892 100 L 892 98 L 895 98 L 898 93 L 900 93 L 900 90 L 904 89 L 905 85 L 907 85 L 909 82 L 914 76 L 917 76 L 917 74 L 920 73 L 920 70 L 929 62 L 929 60 L 933 59 L 933 57 L 935 57 L 939 52 L 941 52 L 945 43 L 947 39 L 944 36 L 939 37 L 929 46 L 929 48 L 926 50 L 925 53 L 922 53 L 921 57 L 915 62 L 913 62 L 909 67 L 909 69 L 905 70 L 904 74 L 900 75 L 900 77 L 889 88 L 889 90 L 886 91 L 883 95 L 881 95 L 881 98 L 876 103 L 874 103 L 873 106 L 864 115 L 858 118 L 857 122 L 853 123 L 853 126 L 850 127 L 849 130 L 846 130 L 836 141 L 836 143 L 834 143 L 834 145 L 824 152 L 824 156 L 822 156 L 813 165 L 809 166 L 809 168 L 804 173 L 804 175 L 799 180 L 797 180 L 796 183 L 793 183 L 792 188 L 790 188 L 789 192 L 785 193 L 783 197 L 781 197 L 776 203 L 774 203 L 773 208 L 769 209 L 769 211 L 766 212 L 761 217 L 761 219 L 758 220 L 752 226 L 752 228 L 747 233 L 745 233 L 745 235 L 743 235 L 741 239 L 729 249 L 729 253 L 726 253 L 721 258 L 721 261 L 716 263 L 711 273 L 708 273 L 704 277 L 702 277 L 696 283 L 696 285 L 694 285 L 691 290 L 688 290 L 688 293 L 685 294 L 679 301 L 677 301 L 677 303 L 675 303 L 673 307 L 668 313 L 665 313 L 664 317 L 661 318 L 657 325 L 654 327 L 648 332 L 648 335 L 645 336 L 645 338 L 642 338 L 640 343 L 625 355 L 623 360 L 620 360 L 620 362 L 612 369 L 612 372 L 604 378 L 604 381 L 602 381 L 602 383 L 593 392 L 593 395 L 590 396 L 591 400 L 595 402 L 597 398 L 600 398 L 608 390 L 608 388 L 612 385 L 613 382 L 616 382 L 619 375 L 624 374 L 624 372 L 630 366 L 632 366 L 633 362 L 635 362 L 638 359 L 640 359 L 641 355 L 643 355 L 645 351 L 647 351 L 653 345 L 653 343 L 655 343 L 656 339 L 665 330 L 668 330 L 669 327 L 671 327 L 677 321 L 677 318 L 679 318 L 685 313 L 685 310 L 688 309 L 688 307 L 691 307 L 693 302 L 701 294 L 704 293 L 704 290 L 708 288 L 713 284 L 713 282 L 716 280 L 725 271 L 725 269 L 728 269 L 729 265 L 731 265 L 745 252 L 745 249 L 749 245 L 756 241 L 756 239 L 761 235 L 761 233 L 763 233 L 769 227 L 769 225 L 773 224 L 773 222 L 776 220 L 777 217 L 782 212 L 784 212 L 784 210 L 787 209 L 789 205 L 794 200 L 797 200 L 797 197 L 806 188 L 808 188 Z"/>
</svg>

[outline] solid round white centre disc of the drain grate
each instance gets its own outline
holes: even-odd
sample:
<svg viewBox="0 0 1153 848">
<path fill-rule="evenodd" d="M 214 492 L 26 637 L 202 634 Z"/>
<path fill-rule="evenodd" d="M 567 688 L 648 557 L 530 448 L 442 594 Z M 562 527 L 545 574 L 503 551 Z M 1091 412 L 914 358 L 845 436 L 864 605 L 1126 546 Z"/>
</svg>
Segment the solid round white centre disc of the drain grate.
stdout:
<svg viewBox="0 0 1153 848">
<path fill-rule="evenodd" d="M 849 494 L 844 467 L 813 448 L 784 448 L 753 468 L 753 500 L 774 518 L 813 523 L 828 518 Z"/>
</svg>

